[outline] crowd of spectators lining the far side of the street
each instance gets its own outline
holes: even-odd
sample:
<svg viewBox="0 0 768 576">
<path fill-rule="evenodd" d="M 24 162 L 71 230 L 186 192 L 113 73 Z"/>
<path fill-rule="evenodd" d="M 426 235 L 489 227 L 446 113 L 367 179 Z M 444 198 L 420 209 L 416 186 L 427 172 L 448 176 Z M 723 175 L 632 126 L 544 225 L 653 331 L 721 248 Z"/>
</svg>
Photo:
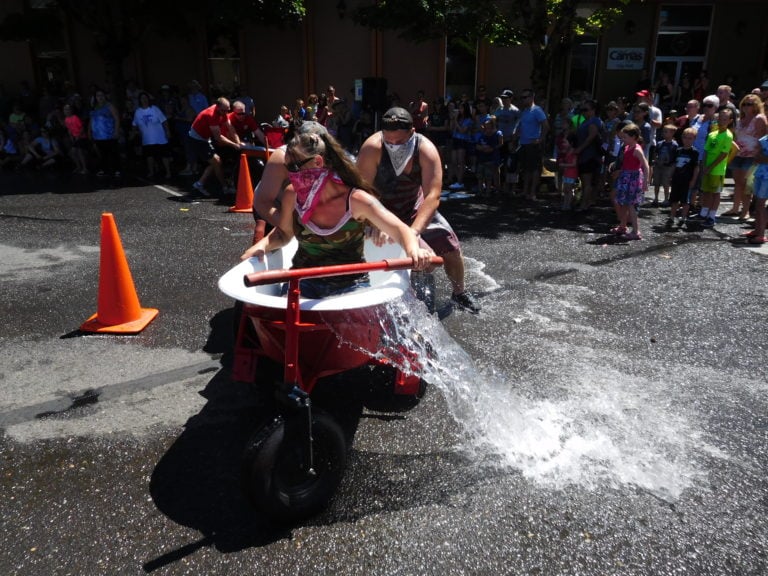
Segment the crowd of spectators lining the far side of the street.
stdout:
<svg viewBox="0 0 768 576">
<path fill-rule="evenodd" d="M 737 95 L 729 84 L 711 85 L 706 71 L 695 78 L 683 74 L 678 84 L 665 72 L 653 82 L 641 76 L 630 97 L 600 105 L 579 93 L 564 98 L 551 116 L 536 104 L 531 89 L 489 94 L 482 85 L 474 97 L 463 93 L 428 101 L 418 91 L 406 102 L 389 94 L 386 106 L 407 108 L 416 131 L 435 144 L 446 188 L 533 201 L 545 166 L 554 172 L 561 207 L 580 211 L 612 197 L 624 146 L 621 131 L 630 122 L 638 127 L 637 144 L 649 164 L 652 203 L 668 205 L 684 131 L 693 128 L 693 147 L 703 160 L 717 111 L 728 108 L 733 116 L 728 130 L 740 150 L 729 158 L 735 198 L 724 215 L 753 218 L 752 159 L 767 130 L 768 83 Z M 234 179 L 222 167 L 235 165 L 236 172 L 233 160 L 243 146 L 280 145 L 283 131 L 297 120 L 319 122 L 354 155 L 374 133 L 376 112 L 351 94 L 340 97 L 333 86 L 281 105 L 263 122 L 256 120 L 253 99 L 239 88 L 206 95 L 194 80 L 155 90 L 129 81 L 120 109 L 96 85 L 87 94 L 65 87 L 61 94 L 44 90 L 36 97 L 22 83 L 13 98 L 0 86 L 0 169 L 112 176 L 128 170 L 153 179 L 196 175 L 194 188 L 201 193 L 215 175 L 221 190 L 231 193 Z"/>
</svg>

